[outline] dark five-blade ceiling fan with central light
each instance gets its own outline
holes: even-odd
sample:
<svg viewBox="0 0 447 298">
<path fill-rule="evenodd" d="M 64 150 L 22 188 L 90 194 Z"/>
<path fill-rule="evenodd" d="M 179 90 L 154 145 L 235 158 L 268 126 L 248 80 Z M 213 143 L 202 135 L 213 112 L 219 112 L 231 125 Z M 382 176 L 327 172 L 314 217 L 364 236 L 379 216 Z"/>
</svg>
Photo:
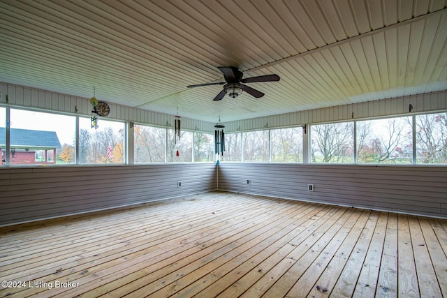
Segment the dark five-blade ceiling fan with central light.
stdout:
<svg viewBox="0 0 447 298">
<path fill-rule="evenodd" d="M 254 82 L 277 82 L 279 81 L 279 75 L 260 75 L 258 77 L 247 77 L 247 79 L 242 79 L 244 73 L 237 69 L 237 67 L 225 67 L 219 66 L 219 70 L 223 73 L 223 78 L 225 82 L 217 82 L 217 83 L 207 83 L 207 84 L 196 84 L 186 86 L 188 88 L 193 87 L 202 87 L 202 86 L 210 86 L 210 85 L 223 85 L 223 90 L 214 97 L 213 100 L 221 100 L 225 94 L 228 94 L 230 98 L 237 98 L 242 91 L 247 92 L 251 96 L 256 98 L 263 97 L 264 94 L 261 91 L 248 87 L 244 85 L 246 83 L 254 83 Z"/>
</svg>

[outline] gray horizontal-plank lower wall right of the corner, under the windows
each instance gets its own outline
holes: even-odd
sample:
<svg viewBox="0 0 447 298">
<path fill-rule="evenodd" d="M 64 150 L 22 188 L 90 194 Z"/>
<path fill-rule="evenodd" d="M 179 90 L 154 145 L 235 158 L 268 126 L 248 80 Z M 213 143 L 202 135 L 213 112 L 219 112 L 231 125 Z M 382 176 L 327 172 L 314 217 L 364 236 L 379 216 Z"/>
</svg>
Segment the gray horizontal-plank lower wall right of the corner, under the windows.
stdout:
<svg viewBox="0 0 447 298">
<path fill-rule="evenodd" d="M 218 174 L 220 191 L 447 218 L 447 167 L 220 163 Z"/>
</svg>

